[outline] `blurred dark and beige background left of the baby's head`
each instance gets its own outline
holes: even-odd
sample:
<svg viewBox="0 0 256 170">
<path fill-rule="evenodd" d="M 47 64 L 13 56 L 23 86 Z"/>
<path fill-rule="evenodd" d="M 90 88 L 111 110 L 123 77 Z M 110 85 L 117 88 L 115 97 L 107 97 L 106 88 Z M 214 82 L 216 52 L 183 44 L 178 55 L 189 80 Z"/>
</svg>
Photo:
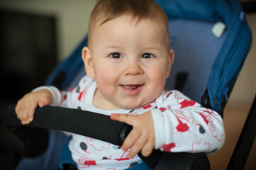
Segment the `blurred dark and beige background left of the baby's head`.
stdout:
<svg viewBox="0 0 256 170">
<path fill-rule="evenodd" d="M 0 1 L 0 76 L 6 80 L 0 84 L 6 89 L 0 97 L 0 108 L 45 83 L 57 63 L 87 34 L 95 3 Z"/>
</svg>

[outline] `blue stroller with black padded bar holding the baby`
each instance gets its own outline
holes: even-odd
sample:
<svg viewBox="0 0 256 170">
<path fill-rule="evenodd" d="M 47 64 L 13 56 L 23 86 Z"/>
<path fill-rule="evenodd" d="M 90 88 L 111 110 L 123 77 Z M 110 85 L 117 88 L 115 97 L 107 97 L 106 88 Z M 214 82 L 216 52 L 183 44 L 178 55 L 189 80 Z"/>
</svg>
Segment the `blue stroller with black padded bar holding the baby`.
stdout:
<svg viewBox="0 0 256 170">
<path fill-rule="evenodd" d="M 158 0 L 157 3 L 162 6 L 169 18 L 169 38 L 176 55 L 166 88 L 182 91 L 189 98 L 223 116 L 223 108 L 251 45 L 250 28 L 239 2 Z M 87 38 L 84 38 L 67 60 L 50 74 L 46 85 L 54 85 L 60 89 L 76 86 L 85 74 L 81 50 L 86 45 Z M 84 114 L 84 111 L 76 111 L 79 114 L 76 116 L 79 118 L 77 119 L 72 112 L 74 110 L 67 108 L 39 108 L 33 122 L 25 127 L 18 127 L 21 123 L 16 118 L 14 106 L 9 106 L 1 113 L 1 122 L 11 125 L 11 131 L 25 141 L 26 156 L 33 157 L 21 160 L 17 169 L 25 166 L 32 169 L 57 169 L 67 137 L 56 130 L 76 132 L 121 145 L 131 129 L 124 123 L 111 121 L 104 116 L 98 118 L 91 113 Z M 56 123 L 60 115 L 62 120 Z M 84 121 L 94 118 L 101 120 L 99 124 L 102 127 L 105 127 L 106 123 L 110 128 L 107 130 L 108 133 L 104 128 L 99 128 L 99 132 L 93 132 L 89 125 L 89 130 L 87 129 Z M 73 123 L 70 124 L 70 120 L 73 120 Z M 29 131 L 29 135 L 21 135 L 24 129 Z M 33 134 L 38 133 L 40 135 L 33 137 Z M 65 163 L 67 157 L 67 154 L 62 154 L 61 161 Z M 204 153 L 155 151 L 150 157 L 142 159 L 150 169 L 209 169 L 208 158 Z M 61 168 L 75 167 L 64 164 Z"/>
</svg>

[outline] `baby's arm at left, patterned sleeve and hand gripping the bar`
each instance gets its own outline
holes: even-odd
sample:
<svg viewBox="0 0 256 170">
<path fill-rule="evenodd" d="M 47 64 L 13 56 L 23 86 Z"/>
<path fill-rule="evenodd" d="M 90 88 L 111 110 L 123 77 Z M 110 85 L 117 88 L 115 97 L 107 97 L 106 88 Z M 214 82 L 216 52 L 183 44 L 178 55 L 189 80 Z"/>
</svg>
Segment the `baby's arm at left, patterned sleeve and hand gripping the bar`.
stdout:
<svg viewBox="0 0 256 170">
<path fill-rule="evenodd" d="M 17 117 L 21 120 L 22 124 L 28 124 L 33 120 L 35 108 L 38 106 L 72 107 L 74 106 L 72 101 L 77 100 L 79 97 L 81 98 L 82 94 L 84 94 L 84 91 L 79 91 L 79 89 L 87 89 L 92 81 L 93 79 L 85 76 L 79 82 L 79 86 L 69 91 L 60 91 L 55 86 L 40 86 L 18 101 L 15 109 Z"/>
</svg>

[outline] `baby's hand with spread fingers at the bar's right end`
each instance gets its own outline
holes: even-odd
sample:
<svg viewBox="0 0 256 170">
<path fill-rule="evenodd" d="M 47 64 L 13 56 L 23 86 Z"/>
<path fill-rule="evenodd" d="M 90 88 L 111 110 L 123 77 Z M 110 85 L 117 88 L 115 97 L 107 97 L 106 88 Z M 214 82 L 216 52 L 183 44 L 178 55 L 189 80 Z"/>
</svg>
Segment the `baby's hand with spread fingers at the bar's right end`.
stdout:
<svg viewBox="0 0 256 170">
<path fill-rule="evenodd" d="M 118 120 L 133 126 L 126 140 L 123 142 L 124 151 L 130 148 L 128 158 L 133 158 L 141 151 L 148 157 L 155 148 L 155 129 L 150 111 L 142 115 L 111 114 L 112 120 Z"/>
</svg>

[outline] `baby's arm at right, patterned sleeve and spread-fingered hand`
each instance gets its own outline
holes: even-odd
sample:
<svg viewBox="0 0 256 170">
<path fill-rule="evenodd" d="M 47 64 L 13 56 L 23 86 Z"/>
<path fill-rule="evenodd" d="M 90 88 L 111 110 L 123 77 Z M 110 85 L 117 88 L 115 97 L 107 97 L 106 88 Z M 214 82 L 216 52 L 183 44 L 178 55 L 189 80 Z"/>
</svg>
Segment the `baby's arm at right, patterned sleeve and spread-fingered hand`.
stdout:
<svg viewBox="0 0 256 170">
<path fill-rule="evenodd" d="M 190 101 L 179 91 L 162 97 L 158 108 L 142 115 L 111 115 L 113 120 L 133 125 L 122 147 L 130 148 L 130 158 L 140 150 L 147 157 L 152 149 L 211 153 L 223 146 L 225 132 L 218 113 Z"/>
</svg>

